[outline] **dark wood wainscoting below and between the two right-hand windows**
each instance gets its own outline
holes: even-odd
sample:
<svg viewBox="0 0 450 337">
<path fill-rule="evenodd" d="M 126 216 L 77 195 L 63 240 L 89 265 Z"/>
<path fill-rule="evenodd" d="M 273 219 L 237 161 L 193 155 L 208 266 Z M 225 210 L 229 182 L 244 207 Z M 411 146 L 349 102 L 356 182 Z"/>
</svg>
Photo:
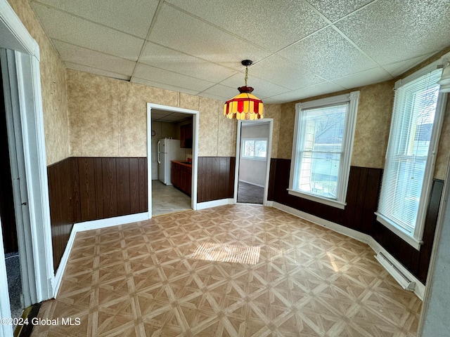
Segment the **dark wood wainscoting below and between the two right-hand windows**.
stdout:
<svg viewBox="0 0 450 337">
<path fill-rule="evenodd" d="M 356 166 L 350 168 L 347 205 L 344 210 L 288 194 L 289 173 L 290 159 L 271 159 L 270 200 L 371 235 L 413 275 L 416 275 L 420 282 L 425 284 L 435 237 L 437 213 L 444 187 L 442 180 L 433 181 L 425 219 L 424 244 L 420 247 L 420 251 L 417 251 L 376 221 L 374 212 L 378 206 L 382 169 Z"/>
</svg>

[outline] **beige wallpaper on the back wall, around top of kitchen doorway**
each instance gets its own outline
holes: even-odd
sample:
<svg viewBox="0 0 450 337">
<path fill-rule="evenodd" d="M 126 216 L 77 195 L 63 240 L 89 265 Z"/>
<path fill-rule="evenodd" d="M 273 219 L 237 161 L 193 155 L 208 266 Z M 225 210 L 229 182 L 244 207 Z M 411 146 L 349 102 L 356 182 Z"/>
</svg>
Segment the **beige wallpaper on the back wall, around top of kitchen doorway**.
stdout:
<svg viewBox="0 0 450 337">
<path fill-rule="evenodd" d="M 218 100 L 67 71 L 71 155 L 146 157 L 147 103 L 199 111 L 198 155 L 236 153 L 236 121 Z"/>
</svg>

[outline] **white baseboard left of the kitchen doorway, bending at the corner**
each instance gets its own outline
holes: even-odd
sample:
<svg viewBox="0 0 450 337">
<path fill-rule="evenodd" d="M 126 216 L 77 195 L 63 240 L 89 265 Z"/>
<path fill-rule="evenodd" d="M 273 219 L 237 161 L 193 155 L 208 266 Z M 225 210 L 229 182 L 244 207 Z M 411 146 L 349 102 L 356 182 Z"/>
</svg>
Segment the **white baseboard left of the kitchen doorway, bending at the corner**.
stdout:
<svg viewBox="0 0 450 337">
<path fill-rule="evenodd" d="M 110 226 L 124 225 L 126 223 L 136 223 L 137 221 L 148 220 L 150 218 L 149 213 L 137 213 L 130 214 L 129 216 L 116 216 L 115 218 L 107 218 L 101 220 L 86 221 L 84 223 L 75 223 L 72 227 L 72 232 L 70 232 L 70 237 L 68 244 L 65 246 L 63 257 L 60 260 L 58 270 L 56 270 L 55 284 L 53 288 L 53 297 L 58 295 L 58 291 L 63 279 L 63 274 L 65 266 L 68 263 L 70 256 L 70 251 L 72 251 L 72 246 L 75 242 L 75 236 L 77 232 L 83 232 L 85 230 L 97 230 L 99 228 L 105 228 Z"/>
</svg>

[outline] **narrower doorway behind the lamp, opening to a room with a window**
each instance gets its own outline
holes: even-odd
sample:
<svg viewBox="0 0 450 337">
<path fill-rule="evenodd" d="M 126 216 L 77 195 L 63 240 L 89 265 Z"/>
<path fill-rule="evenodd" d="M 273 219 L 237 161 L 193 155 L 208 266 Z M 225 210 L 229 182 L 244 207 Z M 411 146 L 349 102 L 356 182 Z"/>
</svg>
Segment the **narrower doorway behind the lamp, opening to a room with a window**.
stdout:
<svg viewBox="0 0 450 337">
<path fill-rule="evenodd" d="M 272 124 L 273 119 L 238 122 L 235 202 L 267 202 Z"/>
</svg>

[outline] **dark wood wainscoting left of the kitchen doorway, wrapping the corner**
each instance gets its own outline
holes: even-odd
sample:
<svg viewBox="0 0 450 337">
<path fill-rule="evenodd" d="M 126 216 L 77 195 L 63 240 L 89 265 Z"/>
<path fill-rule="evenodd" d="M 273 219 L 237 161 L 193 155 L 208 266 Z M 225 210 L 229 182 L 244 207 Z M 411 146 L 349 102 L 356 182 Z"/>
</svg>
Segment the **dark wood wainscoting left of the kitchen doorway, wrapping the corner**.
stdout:
<svg viewBox="0 0 450 337">
<path fill-rule="evenodd" d="M 148 211 L 147 158 L 73 157 L 47 171 L 55 270 L 74 223 Z"/>
</svg>

